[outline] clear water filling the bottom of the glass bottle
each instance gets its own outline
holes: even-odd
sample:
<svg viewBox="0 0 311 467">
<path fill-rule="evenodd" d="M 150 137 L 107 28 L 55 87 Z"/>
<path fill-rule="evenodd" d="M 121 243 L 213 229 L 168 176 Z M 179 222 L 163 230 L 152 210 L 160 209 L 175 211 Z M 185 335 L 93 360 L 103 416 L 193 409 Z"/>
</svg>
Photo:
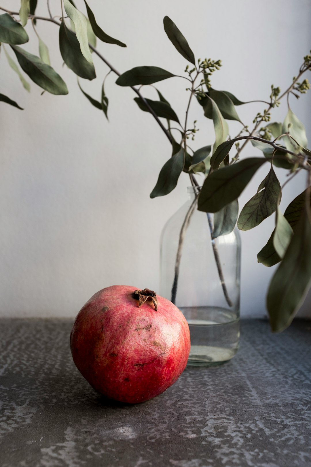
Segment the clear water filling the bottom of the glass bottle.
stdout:
<svg viewBox="0 0 311 467">
<path fill-rule="evenodd" d="M 189 329 L 191 349 L 188 365 L 216 366 L 226 363 L 239 349 L 237 313 L 220 307 L 180 307 Z"/>
</svg>

